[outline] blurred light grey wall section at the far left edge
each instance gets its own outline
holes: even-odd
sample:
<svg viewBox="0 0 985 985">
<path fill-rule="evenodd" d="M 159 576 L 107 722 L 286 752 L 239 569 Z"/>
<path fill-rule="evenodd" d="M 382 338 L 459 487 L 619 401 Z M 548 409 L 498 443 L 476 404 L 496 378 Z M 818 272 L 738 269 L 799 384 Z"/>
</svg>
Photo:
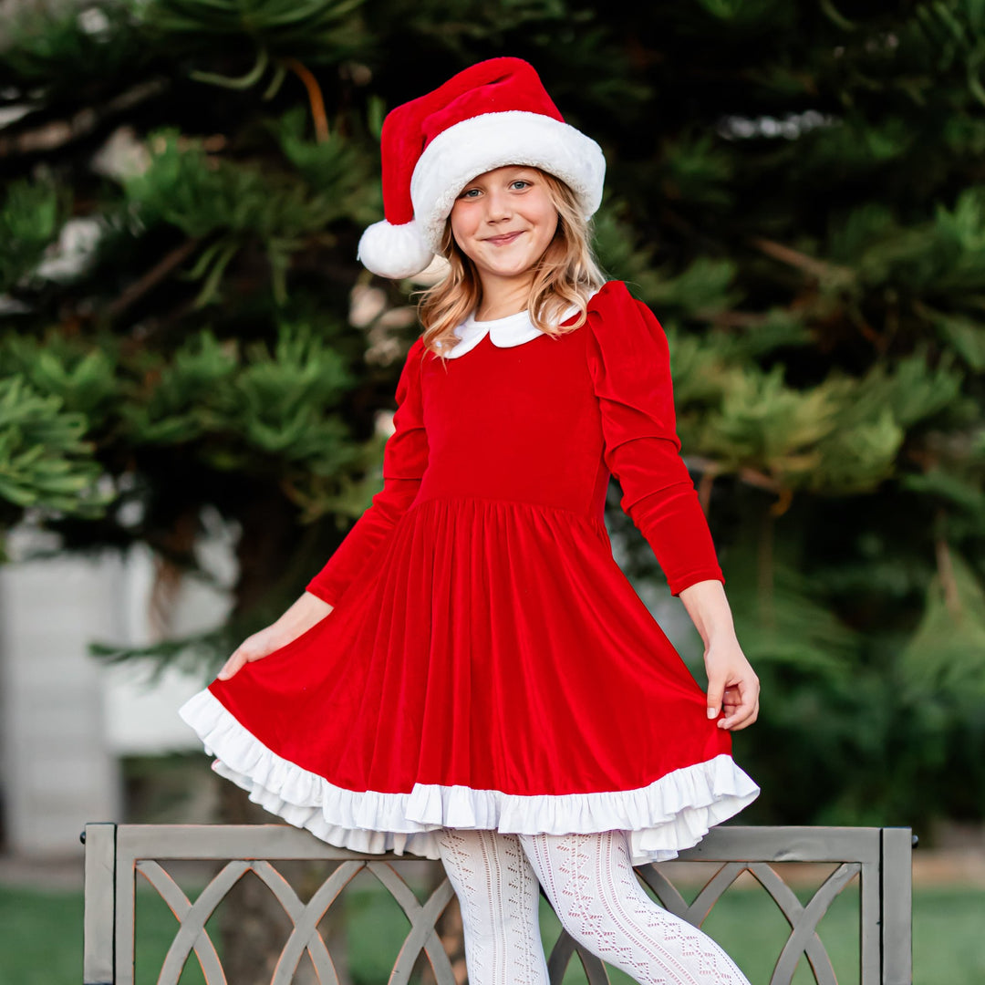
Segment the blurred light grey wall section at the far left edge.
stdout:
<svg viewBox="0 0 985 985">
<path fill-rule="evenodd" d="M 101 677 L 86 655 L 118 637 L 122 565 L 26 561 L 0 569 L 0 695 L 8 847 L 67 853 L 86 821 L 119 815 Z"/>
</svg>

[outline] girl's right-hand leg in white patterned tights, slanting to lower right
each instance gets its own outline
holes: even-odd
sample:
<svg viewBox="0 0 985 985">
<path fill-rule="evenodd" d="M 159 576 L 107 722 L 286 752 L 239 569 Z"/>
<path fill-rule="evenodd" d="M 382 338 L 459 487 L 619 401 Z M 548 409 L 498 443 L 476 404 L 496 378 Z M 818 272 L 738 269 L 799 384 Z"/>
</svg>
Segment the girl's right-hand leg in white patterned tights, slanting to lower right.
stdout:
<svg viewBox="0 0 985 985">
<path fill-rule="evenodd" d="M 645 985 L 749 985 L 707 934 L 647 895 L 625 831 L 518 837 L 561 926 L 587 951 Z"/>
</svg>

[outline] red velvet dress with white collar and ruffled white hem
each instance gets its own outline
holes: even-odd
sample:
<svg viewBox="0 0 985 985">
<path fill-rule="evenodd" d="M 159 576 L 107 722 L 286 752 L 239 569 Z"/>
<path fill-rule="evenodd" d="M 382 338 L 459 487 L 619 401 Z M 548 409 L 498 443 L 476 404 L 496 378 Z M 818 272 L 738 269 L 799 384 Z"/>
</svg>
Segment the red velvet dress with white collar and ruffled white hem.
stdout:
<svg viewBox="0 0 985 985">
<path fill-rule="evenodd" d="M 335 608 L 182 708 L 214 768 L 335 845 L 440 826 L 631 831 L 661 861 L 758 794 L 612 555 L 610 474 L 676 595 L 724 580 L 680 455 L 667 339 L 610 282 L 552 339 L 418 339 L 384 488 L 308 585 Z"/>
</svg>

